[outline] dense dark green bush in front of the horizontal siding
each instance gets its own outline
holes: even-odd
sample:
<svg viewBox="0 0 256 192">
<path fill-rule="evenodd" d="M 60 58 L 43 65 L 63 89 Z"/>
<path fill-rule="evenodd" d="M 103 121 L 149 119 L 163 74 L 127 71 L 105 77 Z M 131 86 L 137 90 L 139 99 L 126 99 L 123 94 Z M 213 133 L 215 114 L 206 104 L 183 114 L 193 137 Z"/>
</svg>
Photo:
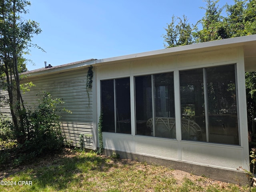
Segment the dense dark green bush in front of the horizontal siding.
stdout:
<svg viewBox="0 0 256 192">
<path fill-rule="evenodd" d="M 36 156 L 42 156 L 52 152 L 56 152 L 63 148 L 64 137 L 61 135 L 60 123 L 58 119 L 60 116 L 56 114 L 60 111 L 60 104 L 64 102 L 61 99 L 53 99 L 50 93 L 44 92 L 42 99 L 39 100 L 38 106 L 35 110 L 22 110 L 20 116 L 23 116 L 23 121 L 20 129 L 14 128 L 13 124 L 6 127 L 17 138 L 18 145 L 10 150 L 6 150 L 0 154 L 0 158 L 8 160 L 8 153 L 12 152 L 14 165 L 19 165 L 23 162 L 33 159 Z M 62 109 L 70 112 L 66 109 Z M 7 162 L 1 162 L 7 163 Z"/>
</svg>

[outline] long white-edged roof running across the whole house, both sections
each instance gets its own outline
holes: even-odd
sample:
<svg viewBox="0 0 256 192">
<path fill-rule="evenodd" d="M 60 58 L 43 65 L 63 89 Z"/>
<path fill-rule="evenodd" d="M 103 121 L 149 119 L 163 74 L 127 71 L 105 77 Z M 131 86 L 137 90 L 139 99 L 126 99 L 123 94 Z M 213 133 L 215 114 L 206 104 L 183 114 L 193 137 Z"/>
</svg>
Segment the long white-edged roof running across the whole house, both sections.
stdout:
<svg viewBox="0 0 256 192">
<path fill-rule="evenodd" d="M 139 60 L 144 58 L 157 58 L 162 56 L 172 56 L 172 55 L 189 54 L 189 53 L 191 54 L 195 52 L 205 52 L 210 50 L 218 50 L 218 49 L 232 48 L 232 47 L 238 47 L 238 46 L 242 46 L 244 48 L 245 65 L 251 71 L 256 70 L 256 34 L 255 34 L 255 35 L 202 42 L 198 44 L 190 44 L 190 45 L 166 48 L 161 50 L 130 54 L 125 56 L 99 59 L 99 60 L 96 60 L 96 59 L 82 60 L 78 62 L 72 62 L 64 65 L 54 66 L 51 68 L 40 68 L 37 70 L 25 72 L 23 74 L 31 74 L 31 75 L 44 74 L 46 72 L 49 73 L 50 71 L 56 72 L 59 70 L 70 70 L 72 68 L 74 69 L 76 67 L 81 67 L 81 66 L 104 65 L 110 62 L 115 63 L 115 62 Z"/>
</svg>

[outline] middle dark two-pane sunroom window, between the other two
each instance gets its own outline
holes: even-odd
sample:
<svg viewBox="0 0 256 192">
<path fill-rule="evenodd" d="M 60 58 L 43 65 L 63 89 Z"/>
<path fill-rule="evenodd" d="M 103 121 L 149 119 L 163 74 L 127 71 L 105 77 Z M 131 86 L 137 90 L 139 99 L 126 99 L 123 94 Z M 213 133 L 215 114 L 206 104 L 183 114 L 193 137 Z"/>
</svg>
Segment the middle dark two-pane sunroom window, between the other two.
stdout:
<svg viewBox="0 0 256 192">
<path fill-rule="evenodd" d="M 135 77 L 136 134 L 176 138 L 173 73 Z"/>
</svg>

